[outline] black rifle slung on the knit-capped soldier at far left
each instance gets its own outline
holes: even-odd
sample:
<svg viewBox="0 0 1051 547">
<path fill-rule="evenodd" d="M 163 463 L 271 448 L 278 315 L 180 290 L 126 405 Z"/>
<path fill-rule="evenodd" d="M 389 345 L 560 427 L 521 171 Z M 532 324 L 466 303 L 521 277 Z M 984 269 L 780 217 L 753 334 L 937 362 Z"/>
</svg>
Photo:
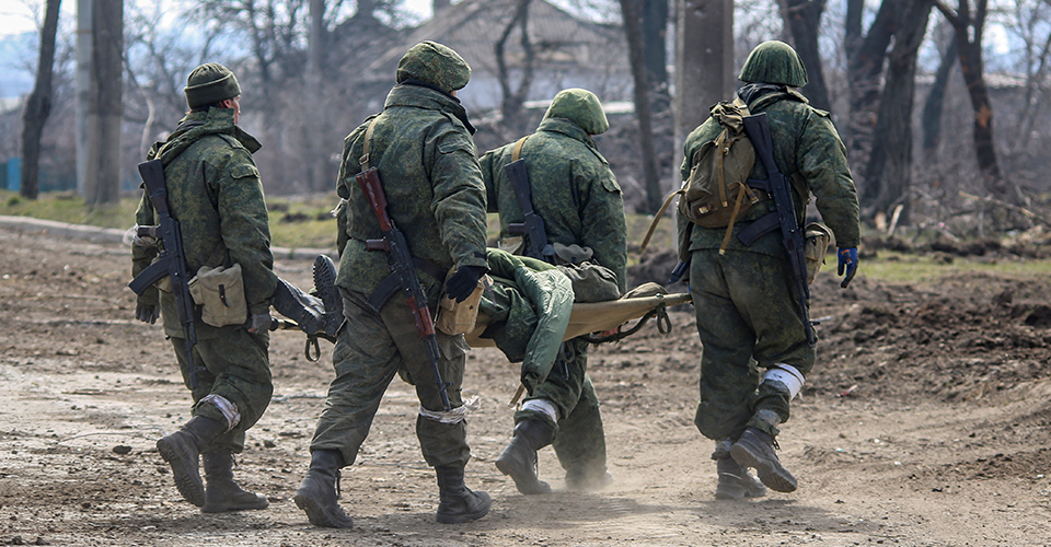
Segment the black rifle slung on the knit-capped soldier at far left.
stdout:
<svg viewBox="0 0 1051 547">
<path fill-rule="evenodd" d="M 164 186 L 164 164 L 152 160 L 139 164 L 139 175 L 146 183 L 146 191 L 157 212 L 158 225 L 139 226 L 139 237 L 154 237 L 160 241 L 160 254 L 148 268 L 140 271 L 128 287 L 136 294 L 142 294 L 153 283 L 165 276 L 172 280 L 172 295 L 175 296 L 175 310 L 183 325 L 183 340 L 186 345 L 186 364 L 189 368 L 189 388 L 197 391 L 197 365 L 194 363 L 194 346 L 197 345 L 197 329 L 194 327 L 196 304 L 189 294 L 189 276 L 186 274 L 186 255 L 183 254 L 183 235 L 178 221 L 168 209 L 168 187 Z"/>
</svg>

